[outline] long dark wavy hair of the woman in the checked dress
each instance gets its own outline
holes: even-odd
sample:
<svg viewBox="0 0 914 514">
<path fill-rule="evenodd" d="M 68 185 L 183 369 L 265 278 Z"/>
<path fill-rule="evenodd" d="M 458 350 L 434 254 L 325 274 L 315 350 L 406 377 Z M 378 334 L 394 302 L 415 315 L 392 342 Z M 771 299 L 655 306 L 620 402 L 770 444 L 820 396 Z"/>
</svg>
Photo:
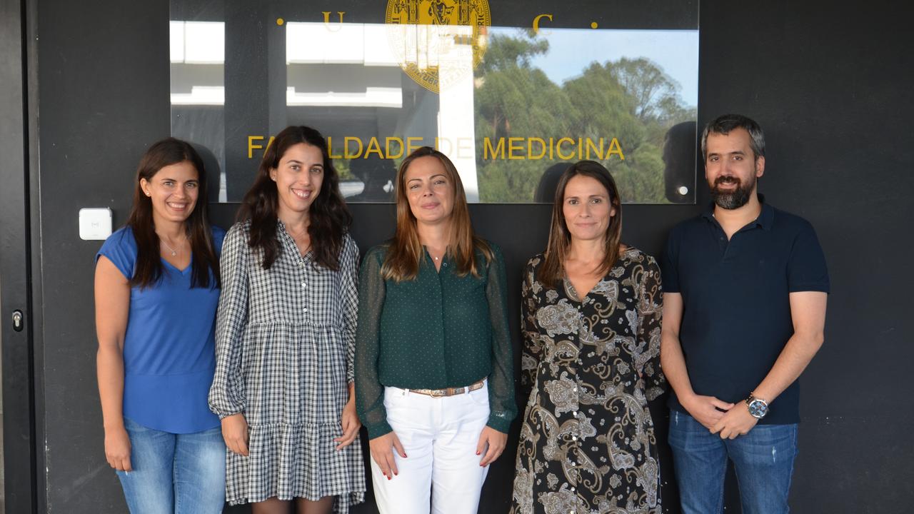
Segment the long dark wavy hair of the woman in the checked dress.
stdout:
<svg viewBox="0 0 914 514">
<path fill-rule="evenodd" d="M 238 219 L 250 220 L 248 244 L 262 252 L 261 265 L 264 270 L 269 270 L 282 252 L 280 241 L 276 238 L 279 196 L 276 183 L 270 177 L 270 170 L 280 166 L 282 155 L 300 143 L 320 149 L 324 157 L 324 180 L 317 198 L 314 198 L 309 208 L 308 236 L 311 238 L 314 260 L 325 268 L 336 271 L 339 269 L 339 254 L 343 250 L 345 232 L 352 225 L 352 215 L 340 194 L 340 179 L 327 151 L 327 142 L 313 128 L 293 125 L 276 134 L 260 160 L 253 185 L 241 200 Z"/>
</svg>

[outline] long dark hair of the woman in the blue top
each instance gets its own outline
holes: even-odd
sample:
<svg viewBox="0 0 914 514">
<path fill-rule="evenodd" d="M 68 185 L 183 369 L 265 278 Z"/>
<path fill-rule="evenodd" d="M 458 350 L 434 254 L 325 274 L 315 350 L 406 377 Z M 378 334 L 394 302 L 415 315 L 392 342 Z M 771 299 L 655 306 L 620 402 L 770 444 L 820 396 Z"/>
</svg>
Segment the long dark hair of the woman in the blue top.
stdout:
<svg viewBox="0 0 914 514">
<path fill-rule="evenodd" d="M 130 279 L 131 286 L 144 288 L 153 285 L 162 277 L 162 257 L 159 236 L 155 233 L 153 220 L 153 200 L 143 193 L 140 181 L 151 181 L 156 173 L 165 166 L 189 162 L 197 169 L 197 203 L 190 216 L 184 221 L 187 240 L 190 241 L 191 287 L 210 287 L 209 273 L 213 274 L 216 284 L 219 279 L 219 261 L 216 258 L 213 244 L 212 228 L 209 226 L 207 211 L 207 172 L 203 160 L 190 144 L 169 137 L 155 143 L 146 150 L 136 169 L 136 184 L 133 189 L 133 209 L 127 219 L 127 226 L 133 230 L 136 240 L 136 270 Z"/>
</svg>

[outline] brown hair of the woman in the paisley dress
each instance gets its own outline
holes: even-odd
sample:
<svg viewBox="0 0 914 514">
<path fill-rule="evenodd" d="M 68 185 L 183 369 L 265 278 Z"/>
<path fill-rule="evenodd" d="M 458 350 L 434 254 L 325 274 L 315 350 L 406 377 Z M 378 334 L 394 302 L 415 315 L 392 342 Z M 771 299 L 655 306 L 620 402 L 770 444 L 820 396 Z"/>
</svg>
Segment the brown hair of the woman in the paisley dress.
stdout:
<svg viewBox="0 0 914 514">
<path fill-rule="evenodd" d="M 619 246 L 622 239 L 622 202 L 619 201 L 619 188 L 616 187 L 616 181 L 612 179 L 610 172 L 600 163 L 579 161 L 569 166 L 558 178 L 556 198 L 552 202 L 552 226 L 549 228 L 546 258 L 537 273 L 539 282 L 549 288 L 555 287 L 556 283 L 565 275 L 565 260 L 568 258 L 571 233 L 562 207 L 565 204 L 565 187 L 568 187 L 571 178 L 579 175 L 594 178 L 600 182 L 600 185 L 606 187 L 606 191 L 610 195 L 611 209 L 616 211 L 606 228 L 606 254 L 597 271 L 600 274 L 608 273 L 619 258 Z"/>
</svg>

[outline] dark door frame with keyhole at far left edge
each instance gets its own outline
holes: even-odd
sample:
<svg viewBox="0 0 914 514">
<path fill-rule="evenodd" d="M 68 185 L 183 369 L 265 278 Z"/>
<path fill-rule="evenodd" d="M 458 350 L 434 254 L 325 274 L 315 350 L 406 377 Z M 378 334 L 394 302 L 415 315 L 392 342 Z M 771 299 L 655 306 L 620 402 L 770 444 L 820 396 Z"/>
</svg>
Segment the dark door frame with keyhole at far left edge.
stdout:
<svg viewBox="0 0 914 514">
<path fill-rule="evenodd" d="M 37 473 L 44 455 L 36 379 L 40 352 L 40 258 L 37 246 L 37 91 L 35 3 L 0 0 L 0 341 L 3 367 L 5 512 L 37 513 L 44 498 Z M 23 314 L 21 330 L 13 313 Z M 40 488 L 39 488 L 40 487 Z M 41 502 L 43 504 L 43 502 Z"/>
</svg>

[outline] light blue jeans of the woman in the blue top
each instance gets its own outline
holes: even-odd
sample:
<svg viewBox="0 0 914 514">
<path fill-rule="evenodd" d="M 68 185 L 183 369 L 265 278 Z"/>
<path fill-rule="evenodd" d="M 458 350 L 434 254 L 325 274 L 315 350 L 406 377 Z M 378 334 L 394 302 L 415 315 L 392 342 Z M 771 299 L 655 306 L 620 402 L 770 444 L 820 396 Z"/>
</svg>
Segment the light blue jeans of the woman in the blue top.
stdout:
<svg viewBox="0 0 914 514">
<path fill-rule="evenodd" d="M 220 427 L 171 434 L 124 418 L 133 471 L 118 471 L 132 514 L 218 514 L 226 498 Z"/>
</svg>

